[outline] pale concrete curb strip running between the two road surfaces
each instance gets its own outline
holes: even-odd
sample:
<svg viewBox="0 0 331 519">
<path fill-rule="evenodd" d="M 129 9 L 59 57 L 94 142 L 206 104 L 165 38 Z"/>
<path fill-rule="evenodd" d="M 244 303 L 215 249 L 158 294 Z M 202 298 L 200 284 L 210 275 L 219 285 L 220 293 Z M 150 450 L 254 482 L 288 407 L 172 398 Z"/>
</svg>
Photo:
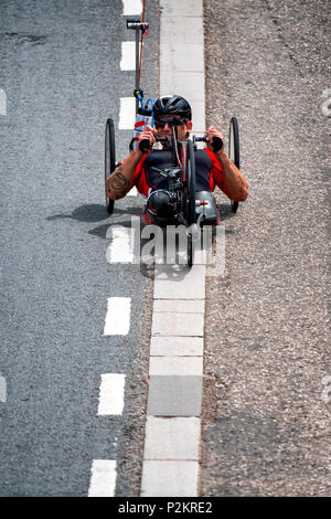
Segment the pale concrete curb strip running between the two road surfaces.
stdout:
<svg viewBox="0 0 331 519">
<path fill-rule="evenodd" d="M 160 0 L 160 95 L 205 129 L 202 0 Z M 157 265 L 141 497 L 197 496 L 205 265 Z"/>
</svg>

